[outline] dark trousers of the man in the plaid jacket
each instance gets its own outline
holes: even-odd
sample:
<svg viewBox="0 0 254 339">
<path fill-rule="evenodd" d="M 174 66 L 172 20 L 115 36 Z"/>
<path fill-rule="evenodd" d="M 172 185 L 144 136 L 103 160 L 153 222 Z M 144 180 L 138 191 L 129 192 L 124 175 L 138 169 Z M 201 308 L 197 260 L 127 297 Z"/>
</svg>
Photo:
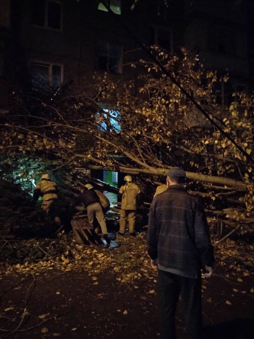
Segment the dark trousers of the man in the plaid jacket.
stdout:
<svg viewBox="0 0 254 339">
<path fill-rule="evenodd" d="M 201 273 L 197 279 L 158 270 L 161 339 L 176 339 L 175 312 L 179 295 L 183 300 L 186 339 L 202 337 Z"/>
</svg>

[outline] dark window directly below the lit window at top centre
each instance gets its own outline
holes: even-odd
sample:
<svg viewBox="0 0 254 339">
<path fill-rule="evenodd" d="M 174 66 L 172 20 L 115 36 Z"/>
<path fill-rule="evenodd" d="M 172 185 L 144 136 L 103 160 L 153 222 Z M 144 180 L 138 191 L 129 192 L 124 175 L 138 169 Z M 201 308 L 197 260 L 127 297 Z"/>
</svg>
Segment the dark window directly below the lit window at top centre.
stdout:
<svg viewBox="0 0 254 339">
<path fill-rule="evenodd" d="M 122 47 L 98 42 L 96 68 L 106 72 L 122 73 Z"/>
</svg>

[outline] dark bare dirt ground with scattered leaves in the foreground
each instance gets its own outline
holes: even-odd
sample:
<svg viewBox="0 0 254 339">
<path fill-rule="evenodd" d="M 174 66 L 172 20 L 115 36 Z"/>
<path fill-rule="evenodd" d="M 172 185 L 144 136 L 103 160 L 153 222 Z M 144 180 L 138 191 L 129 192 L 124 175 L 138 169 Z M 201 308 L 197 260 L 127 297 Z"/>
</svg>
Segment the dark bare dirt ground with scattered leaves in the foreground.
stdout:
<svg viewBox="0 0 254 339">
<path fill-rule="evenodd" d="M 110 255 L 121 257 L 124 250 Z M 144 277 L 136 272 L 141 278 L 123 282 L 112 267 L 96 277 L 83 269 L 1 275 L 0 338 L 159 338 L 156 275 L 147 265 Z M 225 272 L 216 264 L 214 276 L 203 280 L 204 338 L 254 338 L 253 278 Z M 176 324 L 184 338 L 181 301 Z"/>
</svg>

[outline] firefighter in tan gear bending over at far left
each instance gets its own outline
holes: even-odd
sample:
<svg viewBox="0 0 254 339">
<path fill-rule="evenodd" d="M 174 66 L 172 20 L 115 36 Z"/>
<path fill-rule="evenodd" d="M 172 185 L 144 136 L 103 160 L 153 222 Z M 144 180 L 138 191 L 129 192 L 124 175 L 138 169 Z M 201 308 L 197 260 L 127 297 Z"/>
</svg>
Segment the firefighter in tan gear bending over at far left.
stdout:
<svg viewBox="0 0 254 339">
<path fill-rule="evenodd" d="M 57 184 L 49 179 L 48 174 L 43 174 L 40 181 L 37 183 L 33 199 L 37 201 L 39 197 L 42 197 L 41 208 L 58 224 L 60 224 L 60 218 L 57 216 L 57 202 L 59 198 L 59 191 Z M 55 206 L 55 207 L 54 207 Z"/>
</svg>

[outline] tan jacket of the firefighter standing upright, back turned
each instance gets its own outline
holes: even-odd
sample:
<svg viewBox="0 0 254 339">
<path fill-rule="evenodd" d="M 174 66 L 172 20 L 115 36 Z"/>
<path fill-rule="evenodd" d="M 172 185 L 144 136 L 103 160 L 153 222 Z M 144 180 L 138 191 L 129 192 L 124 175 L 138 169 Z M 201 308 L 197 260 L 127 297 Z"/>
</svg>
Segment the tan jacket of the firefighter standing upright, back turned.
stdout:
<svg viewBox="0 0 254 339">
<path fill-rule="evenodd" d="M 119 193 L 122 194 L 122 210 L 136 210 L 138 195 L 141 194 L 140 189 L 137 185 L 132 182 L 127 182 L 123 185 Z"/>
</svg>

